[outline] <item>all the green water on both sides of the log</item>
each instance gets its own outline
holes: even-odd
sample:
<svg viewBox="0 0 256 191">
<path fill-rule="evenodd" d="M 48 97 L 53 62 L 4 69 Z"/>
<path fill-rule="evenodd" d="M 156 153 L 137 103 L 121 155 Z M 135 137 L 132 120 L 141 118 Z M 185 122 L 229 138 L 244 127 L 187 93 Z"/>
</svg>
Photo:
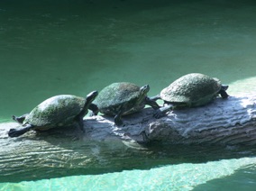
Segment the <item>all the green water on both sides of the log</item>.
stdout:
<svg viewBox="0 0 256 191">
<path fill-rule="evenodd" d="M 29 112 L 50 96 L 86 96 L 117 81 L 149 84 L 149 95 L 154 96 L 190 72 L 219 77 L 230 85 L 229 94 L 256 91 L 255 48 L 256 3 L 248 0 L 1 0 L 0 122 L 10 121 L 13 114 Z M 240 186 L 250 190 L 256 185 L 253 150 L 249 155 L 234 154 L 210 159 L 209 163 L 208 158 L 197 159 L 200 155 L 184 160 L 166 152 L 152 157 L 155 160 L 148 166 L 149 156 L 140 155 L 140 165 L 128 168 L 129 160 L 138 157 L 133 154 L 125 160 L 127 171 L 118 168 L 101 175 L 105 170 L 99 170 L 95 176 L 83 171 L 87 175 L 69 177 L 67 173 L 63 178 L 23 179 L 10 184 L 6 180 L 0 187 L 67 187 L 63 181 L 72 182 L 69 190 L 79 188 L 81 181 L 95 189 L 105 184 L 109 189 L 122 185 L 134 190 L 140 190 L 143 184 L 145 189 L 161 190 L 186 190 L 197 185 L 198 190 L 235 190 Z M 186 158 L 185 153 L 180 155 Z M 244 157 L 250 158 L 244 162 Z M 115 156 L 109 168 L 118 161 Z M 224 164 L 233 165 L 222 168 Z M 187 165 L 194 179 L 186 173 Z M 212 176 L 210 172 L 217 167 L 222 173 Z M 197 168 L 204 171 L 200 174 L 192 170 Z M 159 174 L 165 177 L 154 181 Z M 114 178 L 116 182 L 111 182 Z"/>
</svg>

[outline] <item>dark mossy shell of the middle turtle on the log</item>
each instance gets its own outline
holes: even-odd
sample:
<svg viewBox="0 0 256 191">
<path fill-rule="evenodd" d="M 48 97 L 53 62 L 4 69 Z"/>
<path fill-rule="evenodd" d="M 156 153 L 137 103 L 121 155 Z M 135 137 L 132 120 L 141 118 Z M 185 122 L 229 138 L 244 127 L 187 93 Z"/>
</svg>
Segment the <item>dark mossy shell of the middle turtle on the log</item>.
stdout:
<svg viewBox="0 0 256 191">
<path fill-rule="evenodd" d="M 138 103 L 139 100 L 144 100 L 146 96 L 141 95 L 140 88 L 140 86 L 129 82 L 113 83 L 105 86 L 99 92 L 94 104 L 97 105 L 102 114 L 115 115 L 121 108 L 123 114 L 132 114 L 142 110 L 145 106 L 143 101 Z"/>
</svg>

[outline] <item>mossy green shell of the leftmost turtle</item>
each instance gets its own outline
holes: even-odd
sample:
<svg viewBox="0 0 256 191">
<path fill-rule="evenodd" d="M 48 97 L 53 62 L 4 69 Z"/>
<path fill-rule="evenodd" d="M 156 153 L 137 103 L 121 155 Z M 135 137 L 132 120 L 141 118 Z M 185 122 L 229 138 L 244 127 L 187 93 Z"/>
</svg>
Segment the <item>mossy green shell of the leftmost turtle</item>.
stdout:
<svg viewBox="0 0 256 191">
<path fill-rule="evenodd" d="M 52 96 L 37 105 L 23 121 L 37 127 L 36 130 L 48 130 L 56 126 L 69 125 L 83 110 L 86 99 L 72 95 Z"/>
</svg>

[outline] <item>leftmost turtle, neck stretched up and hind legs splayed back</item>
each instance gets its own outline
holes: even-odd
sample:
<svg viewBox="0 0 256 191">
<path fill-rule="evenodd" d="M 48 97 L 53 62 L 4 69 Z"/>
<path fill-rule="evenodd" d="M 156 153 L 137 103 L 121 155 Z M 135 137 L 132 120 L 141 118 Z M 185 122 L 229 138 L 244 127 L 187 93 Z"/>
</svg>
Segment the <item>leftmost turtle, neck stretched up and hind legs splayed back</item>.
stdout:
<svg viewBox="0 0 256 191">
<path fill-rule="evenodd" d="M 87 114 L 87 109 L 96 108 L 92 102 L 97 94 L 97 91 L 93 91 L 86 98 L 73 95 L 52 96 L 33 108 L 29 114 L 20 117 L 13 115 L 14 121 L 22 123 L 22 127 L 10 129 L 8 135 L 18 137 L 30 130 L 46 131 L 72 124 L 78 124 L 83 130 L 83 117 Z"/>
</svg>

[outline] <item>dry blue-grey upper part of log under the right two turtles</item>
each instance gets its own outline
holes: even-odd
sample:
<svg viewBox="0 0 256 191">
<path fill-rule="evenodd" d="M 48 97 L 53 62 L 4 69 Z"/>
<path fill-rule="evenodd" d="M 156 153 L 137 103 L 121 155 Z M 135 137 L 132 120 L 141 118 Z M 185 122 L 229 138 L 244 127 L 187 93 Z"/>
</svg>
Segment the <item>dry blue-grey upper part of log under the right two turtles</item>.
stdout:
<svg viewBox="0 0 256 191">
<path fill-rule="evenodd" d="M 127 141 L 162 141 L 169 144 L 245 144 L 256 143 L 256 96 L 216 98 L 209 105 L 174 110 L 155 119 L 151 108 L 123 117 L 117 127 L 112 117 L 87 117 L 87 138 L 110 137 Z"/>
</svg>

